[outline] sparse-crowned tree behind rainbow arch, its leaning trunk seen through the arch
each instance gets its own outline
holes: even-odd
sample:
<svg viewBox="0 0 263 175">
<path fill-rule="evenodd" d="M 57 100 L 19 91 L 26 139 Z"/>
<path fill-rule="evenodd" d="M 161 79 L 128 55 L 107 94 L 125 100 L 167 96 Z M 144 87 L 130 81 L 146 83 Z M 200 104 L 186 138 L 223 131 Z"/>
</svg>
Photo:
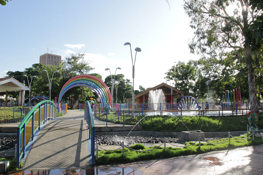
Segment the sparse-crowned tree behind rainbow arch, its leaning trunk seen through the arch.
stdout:
<svg viewBox="0 0 263 175">
<path fill-rule="evenodd" d="M 84 56 L 85 53 L 80 53 L 80 52 L 69 54 L 69 56 L 65 58 L 65 62 L 63 63 L 65 72 L 76 73 L 77 75 L 83 75 L 83 74 L 88 74 L 89 71 L 93 70 L 94 68 L 90 66 L 91 61 L 85 59 Z M 77 104 L 81 99 L 83 98 L 85 99 L 87 98 L 87 96 L 89 96 L 90 93 L 84 91 L 92 92 L 91 89 L 83 88 L 82 86 L 80 86 L 78 91 L 79 94 L 78 99 L 76 99 L 72 109 L 75 109 L 77 107 Z"/>
</svg>

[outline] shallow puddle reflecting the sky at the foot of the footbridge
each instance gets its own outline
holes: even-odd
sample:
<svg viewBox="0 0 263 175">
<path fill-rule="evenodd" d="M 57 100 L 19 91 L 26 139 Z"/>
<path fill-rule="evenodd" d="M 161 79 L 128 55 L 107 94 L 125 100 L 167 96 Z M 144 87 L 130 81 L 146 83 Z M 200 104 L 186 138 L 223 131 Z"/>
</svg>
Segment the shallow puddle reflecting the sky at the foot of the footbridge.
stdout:
<svg viewBox="0 0 263 175">
<path fill-rule="evenodd" d="M 24 170 L 0 175 L 139 175 L 142 171 L 131 167 L 90 167 L 75 169 Z"/>
</svg>

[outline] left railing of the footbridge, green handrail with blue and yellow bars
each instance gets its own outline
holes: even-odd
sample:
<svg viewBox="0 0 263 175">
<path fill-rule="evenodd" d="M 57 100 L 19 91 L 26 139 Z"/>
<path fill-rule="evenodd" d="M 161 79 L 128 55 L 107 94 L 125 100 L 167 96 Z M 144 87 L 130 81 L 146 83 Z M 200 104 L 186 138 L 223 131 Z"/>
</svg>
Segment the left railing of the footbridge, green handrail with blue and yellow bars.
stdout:
<svg viewBox="0 0 263 175">
<path fill-rule="evenodd" d="M 30 140 L 34 140 L 34 134 L 40 130 L 40 125 L 47 120 L 56 119 L 56 105 L 50 100 L 44 100 L 34 106 L 24 117 L 17 127 L 17 166 L 20 165 L 21 158 L 25 156 L 25 149 Z"/>
</svg>

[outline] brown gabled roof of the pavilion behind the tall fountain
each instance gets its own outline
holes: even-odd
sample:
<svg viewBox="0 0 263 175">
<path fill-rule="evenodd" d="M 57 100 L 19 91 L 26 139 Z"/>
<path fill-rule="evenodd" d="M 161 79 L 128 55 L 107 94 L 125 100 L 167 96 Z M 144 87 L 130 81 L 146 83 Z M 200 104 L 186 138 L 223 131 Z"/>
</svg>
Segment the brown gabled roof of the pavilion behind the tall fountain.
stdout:
<svg viewBox="0 0 263 175">
<path fill-rule="evenodd" d="M 185 93 L 183 91 L 180 91 L 179 89 L 176 89 L 175 87 L 172 87 L 172 88 L 173 88 L 173 96 L 177 96 L 178 98 L 185 96 Z M 137 99 L 137 98 L 140 98 L 141 96 L 149 96 L 149 92 L 156 90 L 156 89 L 162 89 L 165 96 L 171 96 L 171 86 L 169 84 L 166 84 L 166 83 L 161 83 L 161 84 L 159 84 L 159 85 L 157 85 L 151 89 L 148 89 L 144 92 L 137 94 L 136 96 L 134 96 L 134 98 Z M 136 100 L 136 101 L 138 101 L 138 100 Z"/>
</svg>

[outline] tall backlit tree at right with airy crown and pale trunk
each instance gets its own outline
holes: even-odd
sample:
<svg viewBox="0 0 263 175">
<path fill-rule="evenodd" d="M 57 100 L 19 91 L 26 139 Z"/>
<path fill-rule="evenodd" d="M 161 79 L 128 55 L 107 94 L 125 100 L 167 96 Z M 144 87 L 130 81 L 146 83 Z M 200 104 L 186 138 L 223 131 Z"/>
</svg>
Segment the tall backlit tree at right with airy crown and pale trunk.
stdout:
<svg viewBox="0 0 263 175">
<path fill-rule="evenodd" d="M 191 18 L 190 27 L 194 37 L 189 43 L 191 52 L 204 57 L 218 56 L 229 50 L 244 51 L 244 61 L 248 70 L 249 98 L 251 110 L 258 111 L 255 86 L 255 47 L 253 33 L 254 22 L 261 10 L 253 10 L 248 0 L 185 0 L 184 9 Z M 229 7 L 236 7 L 229 10 Z M 241 10 L 240 10 L 241 9 Z M 260 39 L 260 38 L 256 38 Z M 261 41 L 262 42 L 262 41 Z"/>
</svg>

